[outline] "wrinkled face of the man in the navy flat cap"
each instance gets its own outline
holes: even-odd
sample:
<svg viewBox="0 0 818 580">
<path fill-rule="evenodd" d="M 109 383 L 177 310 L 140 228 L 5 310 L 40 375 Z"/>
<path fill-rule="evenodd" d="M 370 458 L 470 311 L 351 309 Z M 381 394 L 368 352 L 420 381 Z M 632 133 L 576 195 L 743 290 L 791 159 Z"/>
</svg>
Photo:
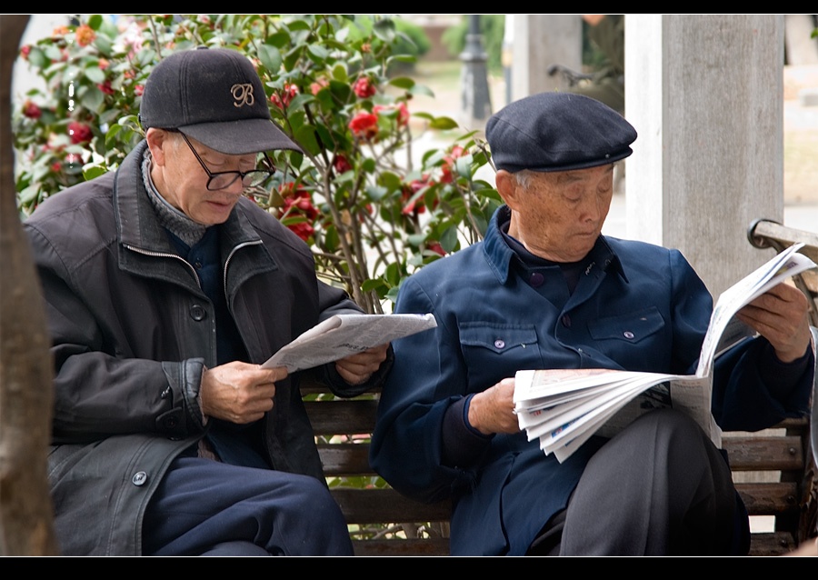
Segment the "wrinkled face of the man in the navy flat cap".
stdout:
<svg viewBox="0 0 818 580">
<path fill-rule="evenodd" d="M 510 175 L 504 195 L 509 234 L 534 255 L 577 262 L 594 247 L 613 198 L 613 164 L 590 169 Z M 499 184 L 498 184 L 499 188 Z M 503 191 L 501 191 L 503 194 Z"/>
</svg>

